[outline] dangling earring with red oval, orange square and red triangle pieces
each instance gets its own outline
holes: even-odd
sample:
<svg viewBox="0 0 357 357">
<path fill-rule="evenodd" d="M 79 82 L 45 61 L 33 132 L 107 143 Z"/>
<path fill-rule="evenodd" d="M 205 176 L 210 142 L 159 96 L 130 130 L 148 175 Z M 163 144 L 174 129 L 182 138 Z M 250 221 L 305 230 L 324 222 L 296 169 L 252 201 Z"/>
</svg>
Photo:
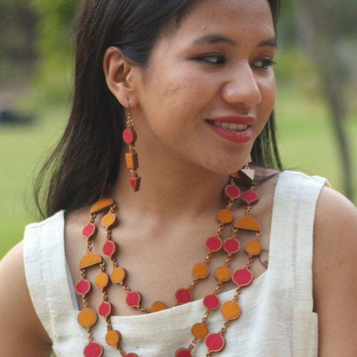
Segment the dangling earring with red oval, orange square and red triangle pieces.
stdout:
<svg viewBox="0 0 357 357">
<path fill-rule="evenodd" d="M 127 128 L 123 132 L 124 141 L 129 144 L 129 152 L 125 152 L 126 167 L 131 169 L 132 177 L 127 180 L 134 192 L 139 191 L 141 177 L 138 176 L 137 168 L 139 167 L 138 154 L 135 152 L 135 141 L 137 139 L 136 131 L 134 130 L 134 121 L 132 118 L 132 110 L 129 106 L 129 115 L 127 116 Z"/>
</svg>

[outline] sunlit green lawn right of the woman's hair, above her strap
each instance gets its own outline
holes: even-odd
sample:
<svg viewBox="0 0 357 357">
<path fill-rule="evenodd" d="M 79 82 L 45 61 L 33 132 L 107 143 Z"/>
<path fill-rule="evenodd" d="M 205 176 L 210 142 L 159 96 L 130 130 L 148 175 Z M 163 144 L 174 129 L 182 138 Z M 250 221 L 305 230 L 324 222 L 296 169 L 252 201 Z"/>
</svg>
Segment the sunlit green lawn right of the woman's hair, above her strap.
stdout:
<svg viewBox="0 0 357 357">
<path fill-rule="evenodd" d="M 344 169 L 323 101 L 291 90 L 281 91 L 277 95 L 276 116 L 284 166 L 327 177 L 333 188 L 343 192 Z M 349 115 L 345 127 L 354 172 L 353 187 L 357 191 L 357 113 Z"/>
</svg>

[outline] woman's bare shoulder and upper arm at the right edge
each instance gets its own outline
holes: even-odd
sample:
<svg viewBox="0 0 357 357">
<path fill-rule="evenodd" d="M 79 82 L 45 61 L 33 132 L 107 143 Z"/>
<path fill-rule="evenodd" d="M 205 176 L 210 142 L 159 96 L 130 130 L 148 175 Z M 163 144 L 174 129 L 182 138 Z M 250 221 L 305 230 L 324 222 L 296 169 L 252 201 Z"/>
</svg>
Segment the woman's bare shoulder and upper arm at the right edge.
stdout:
<svg viewBox="0 0 357 357">
<path fill-rule="evenodd" d="M 314 226 L 314 304 L 319 355 L 357 355 L 357 209 L 324 187 Z"/>
</svg>

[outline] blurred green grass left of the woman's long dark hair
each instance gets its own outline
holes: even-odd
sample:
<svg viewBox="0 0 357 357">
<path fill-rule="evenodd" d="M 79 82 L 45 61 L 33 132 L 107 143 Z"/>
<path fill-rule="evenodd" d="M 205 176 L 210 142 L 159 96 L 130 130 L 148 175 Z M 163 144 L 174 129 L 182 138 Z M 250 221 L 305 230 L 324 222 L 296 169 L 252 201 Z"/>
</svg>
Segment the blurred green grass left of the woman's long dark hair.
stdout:
<svg viewBox="0 0 357 357">
<path fill-rule="evenodd" d="M 32 199 L 35 173 L 63 132 L 68 111 L 44 109 L 33 124 L 0 125 L 0 258 L 39 215 Z"/>
</svg>

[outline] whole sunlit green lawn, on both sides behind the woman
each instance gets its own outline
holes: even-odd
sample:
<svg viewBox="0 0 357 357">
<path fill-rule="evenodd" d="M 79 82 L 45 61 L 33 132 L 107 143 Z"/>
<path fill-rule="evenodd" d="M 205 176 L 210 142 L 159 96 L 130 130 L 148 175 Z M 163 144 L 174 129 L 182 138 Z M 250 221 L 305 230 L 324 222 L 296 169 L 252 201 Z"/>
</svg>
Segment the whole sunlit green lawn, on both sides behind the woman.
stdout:
<svg viewBox="0 0 357 357">
<path fill-rule="evenodd" d="M 341 190 L 343 169 L 321 99 L 287 87 L 278 92 L 276 114 L 285 167 L 328 177 L 333 187 Z M 24 225 L 36 219 L 30 204 L 31 182 L 62 132 L 67 115 L 65 107 L 45 108 L 31 126 L 0 126 L 0 257 L 22 238 Z M 356 116 L 349 118 L 348 135 L 354 145 L 352 161 L 356 162 Z"/>
</svg>

